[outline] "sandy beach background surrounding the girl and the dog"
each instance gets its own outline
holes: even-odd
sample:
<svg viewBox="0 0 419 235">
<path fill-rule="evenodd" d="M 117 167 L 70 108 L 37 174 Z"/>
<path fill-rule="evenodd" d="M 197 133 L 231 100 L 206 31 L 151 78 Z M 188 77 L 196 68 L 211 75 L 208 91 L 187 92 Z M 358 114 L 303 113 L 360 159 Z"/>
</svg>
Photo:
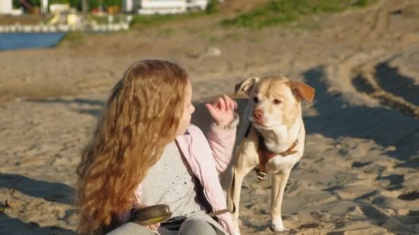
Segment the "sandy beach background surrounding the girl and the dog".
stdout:
<svg viewBox="0 0 419 235">
<path fill-rule="evenodd" d="M 419 234 L 418 0 L 0 0 L 0 234 L 75 234 L 79 153 L 144 58 L 195 102 L 249 76 L 316 89 L 283 234 Z M 242 234 L 273 234 L 270 188 L 245 179 Z"/>
</svg>

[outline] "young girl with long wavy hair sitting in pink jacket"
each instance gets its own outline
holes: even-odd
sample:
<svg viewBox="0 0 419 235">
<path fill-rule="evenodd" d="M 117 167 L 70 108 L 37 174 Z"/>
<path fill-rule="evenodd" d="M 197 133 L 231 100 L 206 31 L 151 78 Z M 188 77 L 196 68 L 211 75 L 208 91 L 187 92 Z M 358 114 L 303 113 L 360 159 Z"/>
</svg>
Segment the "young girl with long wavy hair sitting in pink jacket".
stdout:
<svg viewBox="0 0 419 235">
<path fill-rule="evenodd" d="M 232 234 L 218 174 L 231 160 L 238 118 L 228 96 L 205 104 L 205 138 L 190 124 L 194 106 L 185 70 L 164 60 L 131 65 L 116 84 L 79 175 L 80 234 Z M 143 227 L 132 211 L 166 204 L 172 219 Z"/>
</svg>

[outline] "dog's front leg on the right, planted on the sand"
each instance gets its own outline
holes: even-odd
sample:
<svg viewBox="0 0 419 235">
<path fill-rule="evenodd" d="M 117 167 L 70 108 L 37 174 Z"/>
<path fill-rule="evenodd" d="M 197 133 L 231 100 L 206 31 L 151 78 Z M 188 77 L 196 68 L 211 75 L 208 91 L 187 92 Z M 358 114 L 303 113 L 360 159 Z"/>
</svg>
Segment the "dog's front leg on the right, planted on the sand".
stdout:
<svg viewBox="0 0 419 235">
<path fill-rule="evenodd" d="M 272 177 L 272 199 L 271 199 L 271 219 L 272 230 L 286 231 L 283 225 L 283 218 L 281 216 L 281 208 L 283 204 L 283 197 L 285 186 L 289 178 L 291 170 L 280 171 Z"/>
</svg>

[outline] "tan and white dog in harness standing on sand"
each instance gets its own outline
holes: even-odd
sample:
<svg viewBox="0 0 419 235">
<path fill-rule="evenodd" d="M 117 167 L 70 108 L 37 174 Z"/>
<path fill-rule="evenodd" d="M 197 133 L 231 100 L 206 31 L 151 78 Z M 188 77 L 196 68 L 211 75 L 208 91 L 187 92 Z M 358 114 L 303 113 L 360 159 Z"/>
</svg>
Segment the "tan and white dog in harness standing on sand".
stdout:
<svg viewBox="0 0 419 235">
<path fill-rule="evenodd" d="M 285 186 L 289 173 L 304 153 L 301 101 L 312 102 L 314 88 L 285 77 L 247 78 L 236 85 L 238 92 L 245 93 L 249 102 L 240 127 L 247 131 L 236 151 L 234 177 L 227 196 L 229 207 L 236 209 L 233 213 L 236 234 L 240 234 L 238 208 L 243 178 L 256 166 L 258 179 L 272 174 L 272 229 L 284 231 L 281 205 Z"/>
</svg>

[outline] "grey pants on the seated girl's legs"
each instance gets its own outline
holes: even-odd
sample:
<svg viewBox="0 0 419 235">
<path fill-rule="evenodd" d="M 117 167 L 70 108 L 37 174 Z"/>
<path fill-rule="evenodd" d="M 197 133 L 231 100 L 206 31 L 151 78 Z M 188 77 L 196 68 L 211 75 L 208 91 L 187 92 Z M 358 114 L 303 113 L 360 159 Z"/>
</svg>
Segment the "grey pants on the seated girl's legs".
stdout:
<svg viewBox="0 0 419 235">
<path fill-rule="evenodd" d="M 179 232 L 159 229 L 152 231 L 148 227 L 137 225 L 136 223 L 125 223 L 121 227 L 112 230 L 108 235 L 216 235 L 216 229 L 203 219 L 187 219 L 182 223 Z"/>
</svg>

